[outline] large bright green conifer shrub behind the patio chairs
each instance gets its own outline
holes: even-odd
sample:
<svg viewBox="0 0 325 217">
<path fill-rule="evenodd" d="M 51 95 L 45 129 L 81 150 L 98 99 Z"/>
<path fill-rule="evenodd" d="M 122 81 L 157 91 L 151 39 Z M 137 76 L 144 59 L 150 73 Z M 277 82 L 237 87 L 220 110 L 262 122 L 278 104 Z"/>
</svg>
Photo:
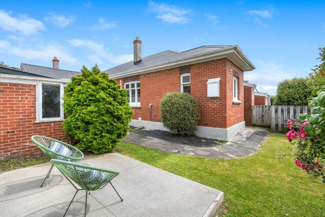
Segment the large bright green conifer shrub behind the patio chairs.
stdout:
<svg viewBox="0 0 325 217">
<path fill-rule="evenodd" d="M 129 131 L 132 109 L 127 92 L 97 66 L 74 76 L 65 90 L 64 130 L 80 150 L 111 152 Z"/>
</svg>

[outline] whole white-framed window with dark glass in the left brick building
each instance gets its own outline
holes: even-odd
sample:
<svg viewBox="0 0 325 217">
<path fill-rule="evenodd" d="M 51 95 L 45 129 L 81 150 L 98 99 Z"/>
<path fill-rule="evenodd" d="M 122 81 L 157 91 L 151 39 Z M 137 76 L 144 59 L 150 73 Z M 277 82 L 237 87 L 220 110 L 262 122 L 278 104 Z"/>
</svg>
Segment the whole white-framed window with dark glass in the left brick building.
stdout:
<svg viewBox="0 0 325 217">
<path fill-rule="evenodd" d="M 63 95 L 62 83 L 38 82 L 36 121 L 63 120 Z"/>
</svg>

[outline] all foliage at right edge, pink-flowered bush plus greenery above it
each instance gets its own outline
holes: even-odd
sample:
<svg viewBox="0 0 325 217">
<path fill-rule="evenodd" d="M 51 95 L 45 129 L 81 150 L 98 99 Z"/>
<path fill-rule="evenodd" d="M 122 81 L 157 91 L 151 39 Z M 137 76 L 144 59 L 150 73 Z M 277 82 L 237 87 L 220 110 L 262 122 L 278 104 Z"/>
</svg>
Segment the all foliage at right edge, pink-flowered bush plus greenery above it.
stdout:
<svg viewBox="0 0 325 217">
<path fill-rule="evenodd" d="M 319 55 L 321 64 L 314 67 L 308 81 L 315 96 L 308 104 L 311 114 L 300 115 L 300 123 L 287 121 L 286 136 L 296 148 L 296 165 L 325 183 L 325 48 L 320 48 Z"/>
</svg>

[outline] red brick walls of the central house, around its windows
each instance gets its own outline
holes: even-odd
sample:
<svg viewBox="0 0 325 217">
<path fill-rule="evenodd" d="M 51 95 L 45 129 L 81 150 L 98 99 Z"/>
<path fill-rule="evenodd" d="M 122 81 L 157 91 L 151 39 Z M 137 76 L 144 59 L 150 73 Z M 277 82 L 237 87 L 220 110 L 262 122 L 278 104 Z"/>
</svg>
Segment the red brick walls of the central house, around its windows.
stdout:
<svg viewBox="0 0 325 217">
<path fill-rule="evenodd" d="M 191 95 L 196 98 L 200 107 L 199 126 L 227 128 L 244 121 L 244 106 L 232 104 L 232 70 L 239 74 L 239 99 L 244 97 L 243 71 L 227 59 L 213 60 L 190 66 Z M 210 78 L 220 79 L 220 97 L 206 96 L 206 82 Z M 149 104 L 153 104 L 152 121 L 160 122 L 160 100 L 169 92 L 180 92 L 179 68 L 172 68 L 132 77 L 116 79 L 120 85 L 140 80 L 141 107 L 133 108 L 132 119 L 150 121 Z M 231 97 L 230 97 L 231 96 Z M 228 111 L 230 110 L 230 111 Z"/>
</svg>

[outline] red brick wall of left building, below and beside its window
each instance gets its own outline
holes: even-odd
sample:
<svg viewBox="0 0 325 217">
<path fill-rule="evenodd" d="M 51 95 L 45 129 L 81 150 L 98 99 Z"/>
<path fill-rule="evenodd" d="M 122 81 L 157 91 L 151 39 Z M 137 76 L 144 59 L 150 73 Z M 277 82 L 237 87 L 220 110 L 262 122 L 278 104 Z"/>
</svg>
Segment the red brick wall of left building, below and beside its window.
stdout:
<svg viewBox="0 0 325 217">
<path fill-rule="evenodd" d="M 0 159 L 40 150 L 32 135 L 45 135 L 64 142 L 62 121 L 35 123 L 35 85 L 0 83 Z"/>
</svg>

